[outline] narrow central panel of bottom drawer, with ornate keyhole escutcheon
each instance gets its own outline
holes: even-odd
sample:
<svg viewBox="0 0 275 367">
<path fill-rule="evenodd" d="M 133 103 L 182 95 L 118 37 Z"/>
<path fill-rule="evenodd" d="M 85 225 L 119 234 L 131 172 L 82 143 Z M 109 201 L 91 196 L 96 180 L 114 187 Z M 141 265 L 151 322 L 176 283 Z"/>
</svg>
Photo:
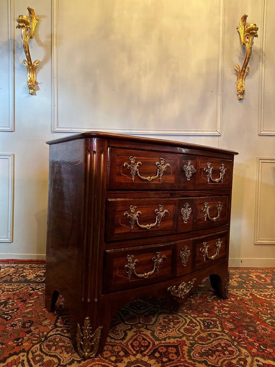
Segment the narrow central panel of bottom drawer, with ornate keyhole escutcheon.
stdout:
<svg viewBox="0 0 275 367">
<path fill-rule="evenodd" d="M 191 273 L 192 258 L 192 240 L 177 243 L 177 276 Z"/>
</svg>

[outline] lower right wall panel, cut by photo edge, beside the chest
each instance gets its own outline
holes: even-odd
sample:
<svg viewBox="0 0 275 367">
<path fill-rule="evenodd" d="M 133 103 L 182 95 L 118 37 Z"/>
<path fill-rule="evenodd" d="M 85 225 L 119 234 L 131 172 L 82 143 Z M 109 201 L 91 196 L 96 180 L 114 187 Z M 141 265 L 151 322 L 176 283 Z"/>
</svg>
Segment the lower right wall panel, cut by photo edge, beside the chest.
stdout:
<svg viewBox="0 0 275 367">
<path fill-rule="evenodd" d="M 275 159 L 257 159 L 254 243 L 275 244 Z"/>
</svg>

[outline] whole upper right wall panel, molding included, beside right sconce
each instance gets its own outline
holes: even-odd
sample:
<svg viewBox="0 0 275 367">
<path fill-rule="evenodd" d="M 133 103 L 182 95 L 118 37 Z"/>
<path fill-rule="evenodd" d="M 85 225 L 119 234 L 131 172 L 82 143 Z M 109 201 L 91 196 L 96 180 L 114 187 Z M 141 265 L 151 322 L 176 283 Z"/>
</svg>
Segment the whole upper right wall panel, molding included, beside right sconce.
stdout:
<svg viewBox="0 0 275 367">
<path fill-rule="evenodd" d="M 275 135 L 275 2 L 263 0 L 260 47 L 259 135 Z"/>
</svg>

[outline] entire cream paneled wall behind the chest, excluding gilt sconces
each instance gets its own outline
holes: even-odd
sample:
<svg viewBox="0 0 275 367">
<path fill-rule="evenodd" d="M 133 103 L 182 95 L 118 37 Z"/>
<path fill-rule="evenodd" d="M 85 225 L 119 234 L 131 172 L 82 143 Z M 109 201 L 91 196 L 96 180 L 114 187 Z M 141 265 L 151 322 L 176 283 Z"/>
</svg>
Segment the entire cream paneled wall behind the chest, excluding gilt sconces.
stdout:
<svg viewBox="0 0 275 367">
<path fill-rule="evenodd" d="M 33 96 L 15 29 L 27 6 L 39 18 L 30 40 L 32 59 L 40 60 Z M 15 155 L 11 215 L 0 159 L 3 233 L 14 218 L 13 241 L 11 233 L 0 243 L 0 258 L 45 257 L 45 141 L 103 130 L 238 151 L 230 265 L 275 264 L 274 1 L 1 0 L 0 7 L 0 153 Z M 257 23 L 259 37 L 238 101 L 234 65 L 245 52 L 236 26 L 243 14 Z"/>
</svg>

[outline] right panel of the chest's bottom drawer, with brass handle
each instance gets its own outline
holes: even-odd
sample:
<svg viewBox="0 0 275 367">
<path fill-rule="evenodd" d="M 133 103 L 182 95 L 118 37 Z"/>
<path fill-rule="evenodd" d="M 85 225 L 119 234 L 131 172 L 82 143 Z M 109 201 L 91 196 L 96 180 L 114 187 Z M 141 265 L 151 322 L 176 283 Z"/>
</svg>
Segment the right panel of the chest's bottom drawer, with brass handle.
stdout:
<svg viewBox="0 0 275 367">
<path fill-rule="evenodd" d="M 217 233 L 215 235 L 195 239 L 196 249 L 195 270 L 213 265 L 214 262 L 225 260 L 228 257 L 228 236 L 227 233 Z"/>
</svg>

